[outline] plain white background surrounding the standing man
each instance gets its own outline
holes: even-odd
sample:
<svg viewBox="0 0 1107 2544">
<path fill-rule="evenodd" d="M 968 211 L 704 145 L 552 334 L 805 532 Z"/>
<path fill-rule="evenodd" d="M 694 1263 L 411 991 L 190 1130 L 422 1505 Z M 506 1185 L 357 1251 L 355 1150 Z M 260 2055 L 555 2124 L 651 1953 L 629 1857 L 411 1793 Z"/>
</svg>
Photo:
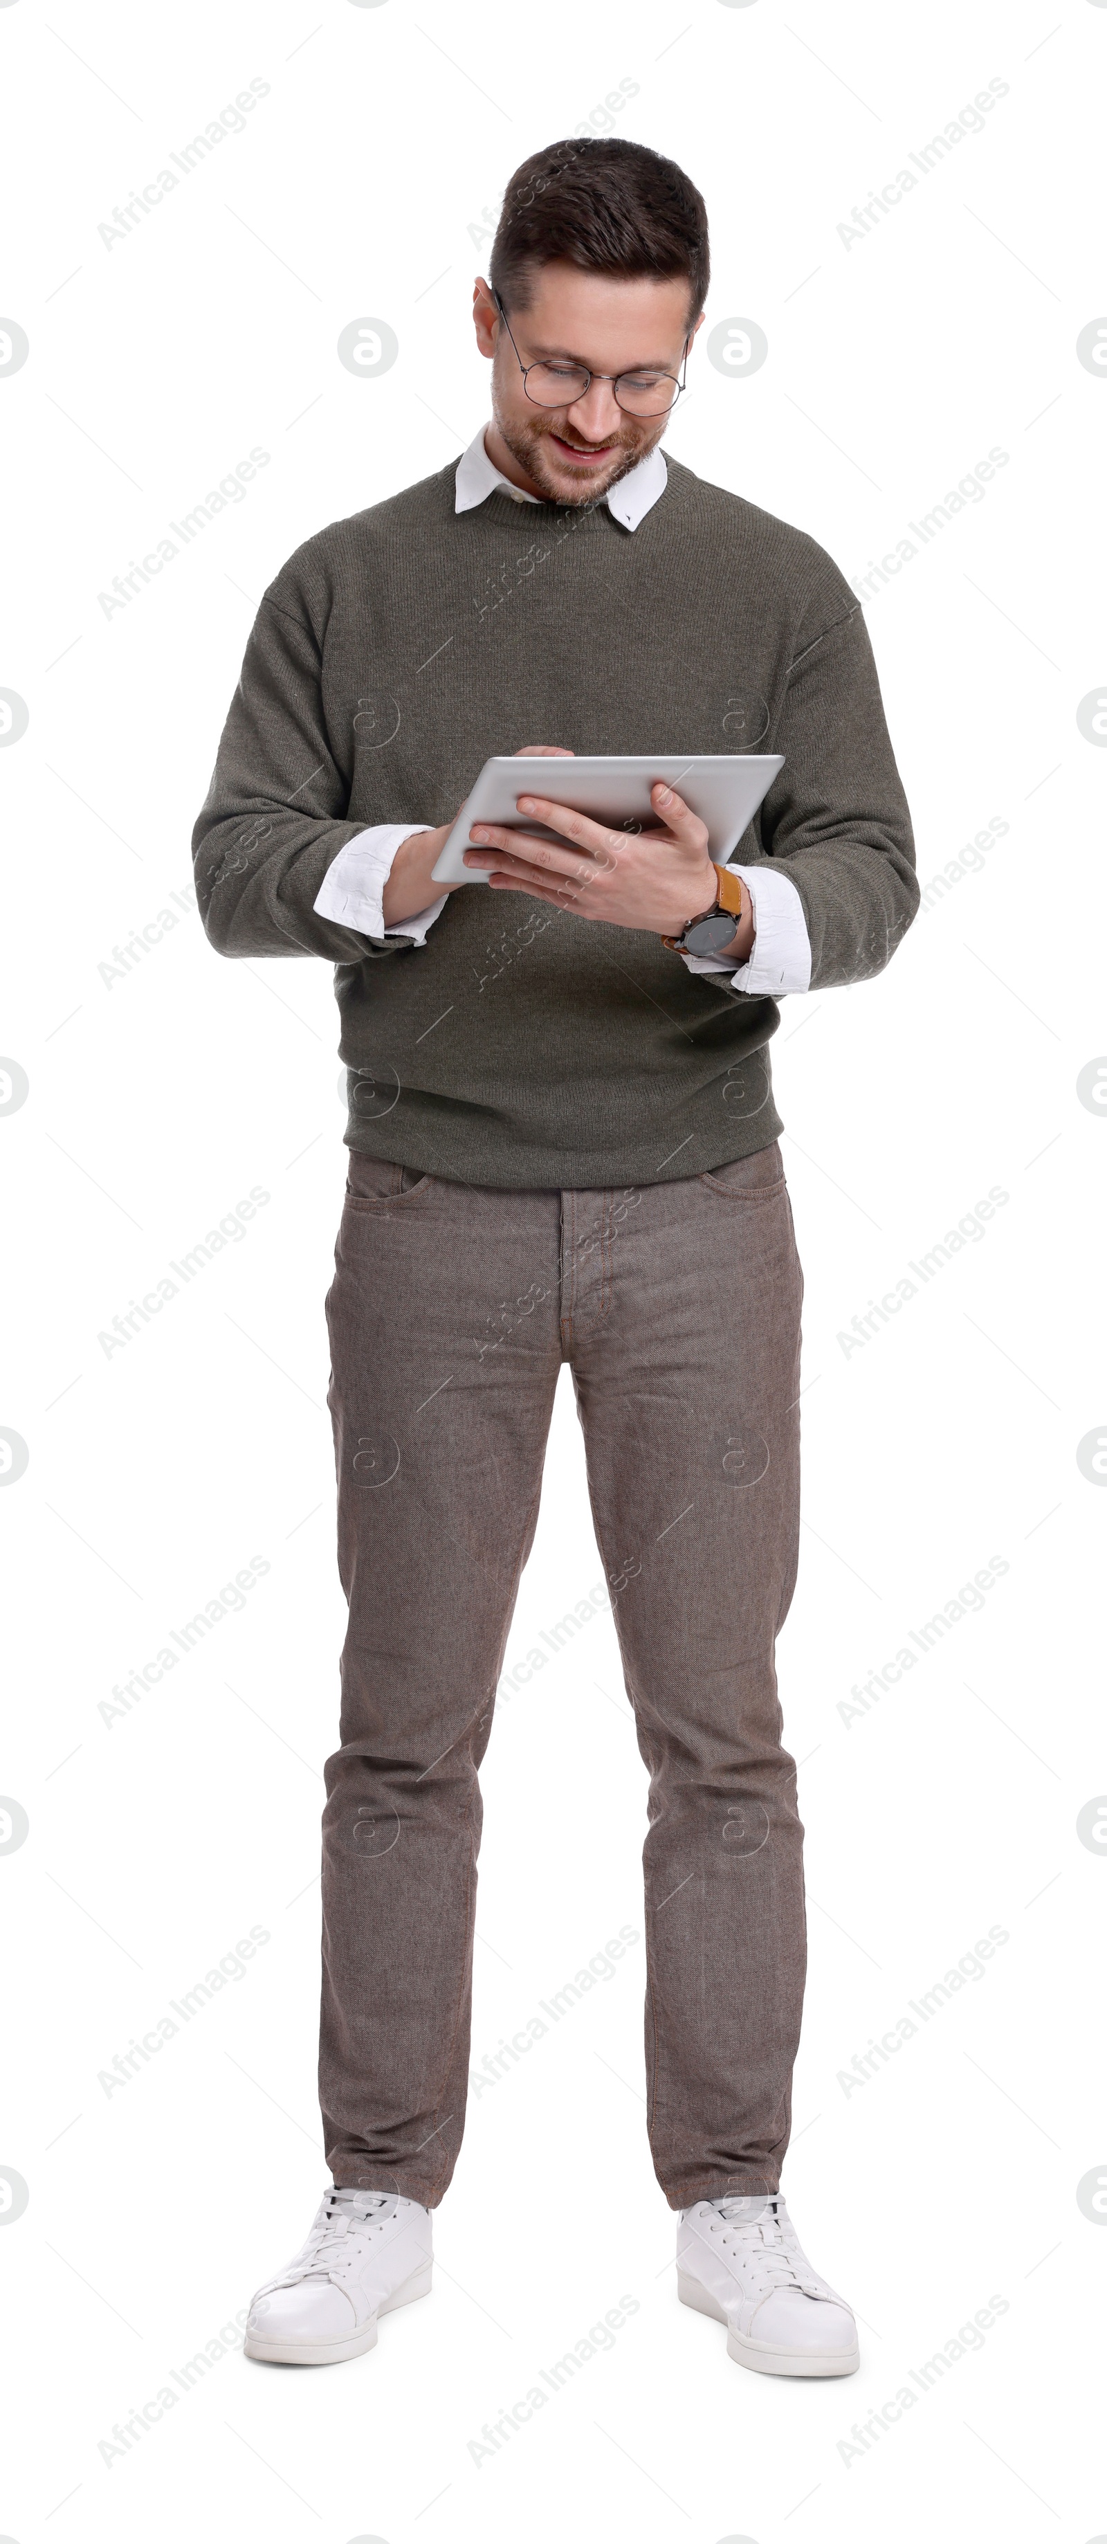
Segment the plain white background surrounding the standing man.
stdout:
<svg viewBox="0 0 1107 2544">
<path fill-rule="evenodd" d="M 0 374 L 0 687 L 28 705 L 0 753 L 0 1043 L 28 1076 L 0 1122 L 0 1425 L 28 1448 L 0 1496 L 0 1783 L 28 1814 L 0 1862 L 18 2040 L 0 2162 L 28 2185 L 0 2244 L 0 2521 L 18 2544 L 453 2544 L 567 2519 L 695 2544 L 939 2524 L 1084 2544 L 1107 2529 L 1089 2374 L 1107 2234 L 1076 2203 L 1107 2175 L 1107 1872 L 1076 1814 L 1104 1791 L 1087 1585 L 1107 1501 L 1076 1448 L 1107 1425 L 1107 1130 L 1076 1076 L 1107 1051 L 1107 758 L 1076 707 L 1107 687 L 1107 377 L 1076 336 L 1107 308 L 1102 214 L 1079 188 L 1102 160 L 1107 8 L 5 0 L 0 51 L 3 313 L 31 343 Z M 247 127 L 104 244 L 115 206 L 249 79 L 270 94 Z M 608 114 L 623 79 L 636 94 Z M 985 130 L 845 242 L 853 206 L 990 79 L 1008 94 Z M 863 577 L 1008 453 L 868 605 L 921 883 L 992 817 L 1008 832 L 931 895 L 881 979 L 786 1000 L 774 1043 L 807 1272 L 802 1570 L 779 1661 L 812 1969 L 784 2188 L 858 2307 L 863 2368 L 748 2376 L 677 2305 L 636 1944 L 471 2099 L 433 2302 L 389 2318 L 369 2358 L 277 2374 L 216 2335 L 326 2180 L 336 1013 L 326 964 L 219 962 L 196 916 L 122 977 L 99 967 L 186 890 L 277 565 L 484 422 L 468 305 L 486 211 L 540 142 L 606 125 L 702 188 L 707 328 L 753 318 L 769 338 L 743 377 L 707 364 L 702 331 L 669 435 L 687 466 Z M 336 359 L 364 315 L 400 338 L 379 379 Z M 112 577 L 252 445 L 270 466 L 247 499 L 104 616 Z M 112 1318 L 252 1186 L 270 1201 L 247 1236 L 104 1353 Z M 992 1186 L 1008 1201 L 987 1231 L 845 1351 L 868 1300 Z M 107 1725 L 112 1687 L 252 1554 L 270 1570 L 244 1610 Z M 1008 1572 L 982 1613 L 842 1717 L 992 1554 Z M 595 1580 L 562 1392 L 506 1666 Z M 484 1791 L 473 2066 L 621 1923 L 641 1933 L 644 1768 L 608 1621 L 504 1702 Z M 99 2071 L 252 1926 L 270 1941 L 244 1977 L 107 2094 Z M 868 2040 L 990 1926 L 1008 1941 L 985 1977 L 847 2089 Z M 481 2424 L 623 2292 L 639 2312 L 613 2348 L 476 2463 Z M 990 2295 L 1008 2312 L 982 2348 L 845 2458 L 850 2424 Z M 104 2460 L 206 2343 L 204 2379 Z"/>
</svg>

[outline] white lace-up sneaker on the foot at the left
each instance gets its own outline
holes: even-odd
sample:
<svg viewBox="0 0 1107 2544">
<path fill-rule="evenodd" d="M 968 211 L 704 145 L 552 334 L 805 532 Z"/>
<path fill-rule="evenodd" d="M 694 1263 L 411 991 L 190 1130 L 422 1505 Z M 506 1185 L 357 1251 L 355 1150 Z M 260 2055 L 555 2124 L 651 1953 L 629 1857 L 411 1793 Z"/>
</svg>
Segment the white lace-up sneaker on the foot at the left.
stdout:
<svg viewBox="0 0 1107 2544">
<path fill-rule="evenodd" d="M 303 2249 L 257 2290 L 247 2358 L 323 2368 L 377 2348 L 377 2315 L 430 2297 L 430 2208 L 331 2188 Z"/>
</svg>

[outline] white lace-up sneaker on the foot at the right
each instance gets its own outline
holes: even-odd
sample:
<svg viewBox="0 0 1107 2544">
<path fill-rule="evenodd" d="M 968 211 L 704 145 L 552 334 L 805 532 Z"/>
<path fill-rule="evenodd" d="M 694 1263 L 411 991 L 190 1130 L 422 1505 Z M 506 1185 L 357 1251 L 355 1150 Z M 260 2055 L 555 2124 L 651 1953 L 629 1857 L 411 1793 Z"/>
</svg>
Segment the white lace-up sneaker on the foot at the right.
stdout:
<svg viewBox="0 0 1107 2544">
<path fill-rule="evenodd" d="M 799 2249 L 779 2193 L 697 2201 L 677 2226 L 677 2295 L 728 2328 L 728 2356 L 763 2376 L 853 2376 L 858 2325 Z"/>
</svg>

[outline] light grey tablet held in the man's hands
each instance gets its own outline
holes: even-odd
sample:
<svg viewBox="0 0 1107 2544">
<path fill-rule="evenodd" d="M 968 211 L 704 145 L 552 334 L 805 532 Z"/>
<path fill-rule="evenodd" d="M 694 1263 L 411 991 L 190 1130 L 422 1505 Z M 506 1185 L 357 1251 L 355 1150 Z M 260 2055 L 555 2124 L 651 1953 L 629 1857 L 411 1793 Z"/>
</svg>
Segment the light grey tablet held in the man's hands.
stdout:
<svg viewBox="0 0 1107 2544">
<path fill-rule="evenodd" d="M 471 796 L 466 796 L 433 868 L 433 880 L 489 880 L 481 868 L 463 862 L 463 850 L 473 845 L 468 837 L 473 822 L 506 822 L 512 829 L 529 829 L 540 840 L 557 840 L 565 847 L 567 842 L 560 829 L 547 829 L 545 822 L 517 812 L 517 796 L 522 794 L 545 794 L 552 804 L 570 804 L 573 812 L 585 812 L 608 829 L 664 829 L 649 801 L 654 778 L 674 786 L 685 796 L 685 804 L 700 814 L 700 822 L 707 824 L 707 855 L 715 865 L 725 865 L 751 827 L 779 768 L 784 768 L 781 750 L 705 750 L 685 756 L 659 750 L 651 761 L 634 756 L 580 756 L 573 761 L 494 758 L 484 763 Z"/>
</svg>

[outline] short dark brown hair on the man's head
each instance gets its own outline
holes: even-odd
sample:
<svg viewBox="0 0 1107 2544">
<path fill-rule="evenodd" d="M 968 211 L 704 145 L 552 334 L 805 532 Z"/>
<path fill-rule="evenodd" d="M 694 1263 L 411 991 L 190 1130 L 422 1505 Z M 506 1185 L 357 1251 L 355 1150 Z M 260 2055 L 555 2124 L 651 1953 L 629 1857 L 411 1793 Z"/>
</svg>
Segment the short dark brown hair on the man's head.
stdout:
<svg viewBox="0 0 1107 2544">
<path fill-rule="evenodd" d="M 529 308 L 537 265 L 593 275 L 687 277 L 687 326 L 707 300 L 707 206 L 677 160 L 618 137 L 547 142 L 504 188 L 489 282 L 509 310 Z"/>
</svg>

